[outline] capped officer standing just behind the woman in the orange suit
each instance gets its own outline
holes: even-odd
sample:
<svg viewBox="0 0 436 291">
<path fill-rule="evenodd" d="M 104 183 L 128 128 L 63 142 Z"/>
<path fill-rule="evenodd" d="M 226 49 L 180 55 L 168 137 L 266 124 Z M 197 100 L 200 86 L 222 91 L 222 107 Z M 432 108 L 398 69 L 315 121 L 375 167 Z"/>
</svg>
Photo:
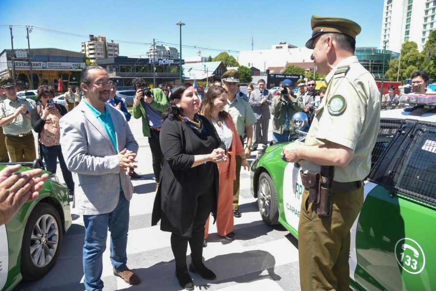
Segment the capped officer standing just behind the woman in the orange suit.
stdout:
<svg viewBox="0 0 436 291">
<path fill-rule="evenodd" d="M 226 71 L 221 76 L 221 85 L 229 92 L 227 105 L 225 110 L 232 116 L 238 131 L 242 145 L 244 141 L 244 129 L 247 132 L 247 145 L 245 146 L 245 156 L 251 155 L 250 147 L 253 142 L 253 125 L 257 122 L 256 116 L 248 101 L 238 96 L 239 73 L 235 69 Z M 239 218 L 239 176 L 241 172 L 242 159 L 239 155 L 236 156 L 236 180 L 233 183 L 233 216 Z"/>
</svg>

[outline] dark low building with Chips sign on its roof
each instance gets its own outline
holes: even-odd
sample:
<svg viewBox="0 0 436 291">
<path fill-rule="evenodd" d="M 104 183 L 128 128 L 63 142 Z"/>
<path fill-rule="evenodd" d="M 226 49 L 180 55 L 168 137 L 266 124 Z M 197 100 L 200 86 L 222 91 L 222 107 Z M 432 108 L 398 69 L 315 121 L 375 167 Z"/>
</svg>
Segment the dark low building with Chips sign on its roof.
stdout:
<svg viewBox="0 0 436 291">
<path fill-rule="evenodd" d="M 149 86 L 160 83 L 174 85 L 179 83 L 179 60 L 160 58 L 129 58 L 117 56 L 98 59 L 97 64 L 106 69 L 109 78 L 117 86 L 131 86 L 132 80 L 144 78 Z M 183 60 L 182 60 L 183 64 Z"/>
</svg>

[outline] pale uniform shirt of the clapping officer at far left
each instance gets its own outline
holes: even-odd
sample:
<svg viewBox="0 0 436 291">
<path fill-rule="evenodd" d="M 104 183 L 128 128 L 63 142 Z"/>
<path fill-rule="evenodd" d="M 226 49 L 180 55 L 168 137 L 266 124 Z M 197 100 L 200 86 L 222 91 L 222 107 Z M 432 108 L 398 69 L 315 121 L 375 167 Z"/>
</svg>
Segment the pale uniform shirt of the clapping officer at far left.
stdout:
<svg viewBox="0 0 436 291">
<path fill-rule="evenodd" d="M 17 97 L 17 101 L 11 101 L 6 98 L 0 103 L 0 119 L 13 115 L 15 110 L 21 105 L 26 105 L 29 112 L 32 110 L 32 105 L 24 98 Z M 19 135 L 31 131 L 30 117 L 27 117 L 22 112 L 10 124 L 3 126 L 4 134 Z"/>
</svg>

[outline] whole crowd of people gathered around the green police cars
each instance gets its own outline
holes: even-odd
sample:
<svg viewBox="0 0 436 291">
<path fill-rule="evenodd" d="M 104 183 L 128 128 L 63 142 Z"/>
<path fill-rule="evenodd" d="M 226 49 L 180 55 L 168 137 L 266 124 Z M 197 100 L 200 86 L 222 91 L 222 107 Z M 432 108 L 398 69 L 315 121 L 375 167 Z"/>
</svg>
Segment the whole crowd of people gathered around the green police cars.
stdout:
<svg viewBox="0 0 436 291">
<path fill-rule="evenodd" d="M 170 94 L 165 84 L 151 89 L 144 79 L 136 78 L 132 114 L 116 97 L 116 86 L 105 69 L 97 65 L 82 70 L 76 92 L 68 87 L 66 106 L 54 104 L 53 87 L 41 85 L 37 106 L 32 108 L 17 97 L 14 79 L 1 80 L 1 161 L 36 158 L 32 129 L 38 133 L 38 150 L 47 169 L 55 173 L 59 161 L 75 213 L 83 217 L 86 290 L 103 289 L 107 229 L 114 275 L 132 285 L 140 283 L 127 267 L 126 254 L 134 192 L 130 178 L 141 177 L 135 172 L 139 145 L 128 124 L 132 115 L 141 119 L 152 155 L 156 180 L 152 225 L 160 221 L 160 229 L 171 232 L 176 277 L 182 288 L 193 290 L 189 271 L 207 280 L 217 278 L 202 260 L 210 215 L 223 239 L 237 239 L 234 218 L 242 215 L 238 208 L 241 168 L 249 170 L 252 151 L 259 144 L 268 145 L 271 116 L 273 140 L 289 141 L 296 112 L 306 113 L 309 133 L 304 144 L 286 145 L 283 154 L 288 162 L 301 162 L 305 172 L 330 173 L 327 187 L 334 193 L 333 206 L 324 213 L 309 197 L 313 186 L 304 185 L 298 228 L 301 289 L 347 290 L 350 228 L 363 203 L 361 181 L 369 172 L 368 155 L 377 137 L 380 95 L 374 78 L 354 56 L 360 26 L 315 16 L 311 26 L 313 35 L 306 46 L 314 49 L 312 60 L 318 72 L 327 75 L 327 87 L 316 90 L 314 79 L 301 79 L 294 92 L 294 83 L 285 79 L 274 98 L 263 79 L 256 89 L 249 84 L 247 94 L 241 93 L 235 69 L 224 72 L 203 100 L 191 83 L 176 86 Z M 414 73 L 416 94 L 425 93 L 428 79 L 425 72 Z M 389 88 L 384 100 L 398 100 L 395 88 Z M 20 182 L 12 191 L 23 197 L 15 208 L 35 199 L 47 178 L 35 178 L 38 170 L 14 176 L 17 170 L 15 166 L 0 172 L 0 197 Z M 0 223 L 13 211 L 2 213 Z M 324 248 L 327 240 L 331 243 Z"/>
</svg>

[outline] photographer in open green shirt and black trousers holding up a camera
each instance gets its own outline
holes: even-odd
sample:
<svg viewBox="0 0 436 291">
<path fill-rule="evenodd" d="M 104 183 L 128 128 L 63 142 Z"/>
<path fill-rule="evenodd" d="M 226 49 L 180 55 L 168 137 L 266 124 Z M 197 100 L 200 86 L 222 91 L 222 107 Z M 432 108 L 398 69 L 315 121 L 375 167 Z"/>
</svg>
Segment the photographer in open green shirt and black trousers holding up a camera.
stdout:
<svg viewBox="0 0 436 291">
<path fill-rule="evenodd" d="M 142 134 L 148 137 L 157 189 L 159 187 L 159 174 L 163 158 L 159 142 L 160 127 L 162 125 L 161 115 L 163 110 L 168 107 L 168 99 L 162 89 L 147 87 L 143 78 L 133 79 L 132 84 L 136 90 L 136 95 L 133 99 L 133 117 L 135 119 L 141 118 Z M 140 177 L 138 174 L 131 176 L 133 178 Z"/>
</svg>

